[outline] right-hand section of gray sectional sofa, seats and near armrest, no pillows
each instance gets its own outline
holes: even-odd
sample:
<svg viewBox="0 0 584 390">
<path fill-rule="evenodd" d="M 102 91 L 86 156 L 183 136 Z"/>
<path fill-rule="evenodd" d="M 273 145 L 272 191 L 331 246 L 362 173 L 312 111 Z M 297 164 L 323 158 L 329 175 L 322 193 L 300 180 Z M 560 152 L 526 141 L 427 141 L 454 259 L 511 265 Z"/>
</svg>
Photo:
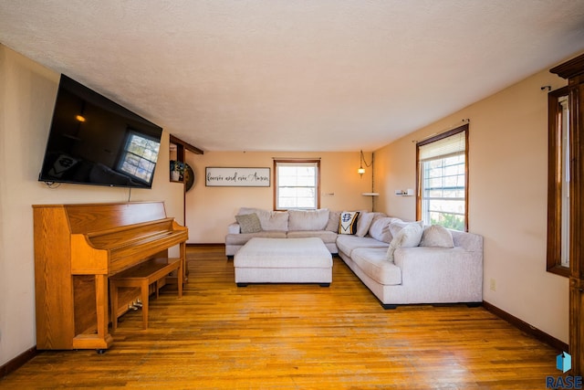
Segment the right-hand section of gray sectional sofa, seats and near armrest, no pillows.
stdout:
<svg viewBox="0 0 584 390">
<path fill-rule="evenodd" d="M 416 303 L 478 303 L 483 300 L 483 237 L 451 231 L 454 248 L 397 248 L 394 260 L 387 247 L 355 242 L 341 244 L 339 257 L 384 308 Z M 350 242 L 350 241 L 349 241 Z M 360 248 L 358 248 L 360 247 Z"/>
</svg>

